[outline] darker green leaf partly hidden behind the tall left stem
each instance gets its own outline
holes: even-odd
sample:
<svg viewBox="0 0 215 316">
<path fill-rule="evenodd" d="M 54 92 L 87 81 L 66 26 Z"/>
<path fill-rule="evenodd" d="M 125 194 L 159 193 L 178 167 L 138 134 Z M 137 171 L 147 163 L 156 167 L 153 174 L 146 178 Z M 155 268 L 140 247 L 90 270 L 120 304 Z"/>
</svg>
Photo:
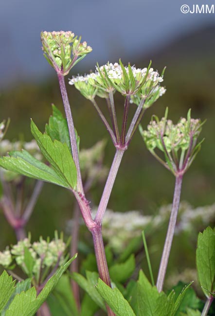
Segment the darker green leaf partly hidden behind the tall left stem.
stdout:
<svg viewBox="0 0 215 316">
<path fill-rule="evenodd" d="M 46 124 L 46 134 L 51 139 L 59 140 L 62 143 L 66 143 L 71 151 L 70 134 L 67 125 L 67 120 L 63 117 L 62 113 L 57 107 L 52 105 L 53 115 L 49 118 L 49 124 Z"/>
</svg>

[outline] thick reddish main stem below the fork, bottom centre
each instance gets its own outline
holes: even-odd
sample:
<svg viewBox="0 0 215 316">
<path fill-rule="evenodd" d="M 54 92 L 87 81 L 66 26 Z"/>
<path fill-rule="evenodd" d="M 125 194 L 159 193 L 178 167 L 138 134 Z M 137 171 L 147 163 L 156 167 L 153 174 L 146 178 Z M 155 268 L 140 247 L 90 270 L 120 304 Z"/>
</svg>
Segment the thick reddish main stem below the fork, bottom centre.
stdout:
<svg viewBox="0 0 215 316">
<path fill-rule="evenodd" d="M 105 247 L 102 239 L 102 227 L 97 225 L 91 230 L 93 244 L 95 249 L 96 263 L 98 267 L 99 277 L 104 281 L 109 287 L 111 287 L 110 277 L 107 267 L 107 260 L 105 255 Z M 109 306 L 107 306 L 107 315 L 114 316 L 115 314 L 111 311 Z"/>
</svg>

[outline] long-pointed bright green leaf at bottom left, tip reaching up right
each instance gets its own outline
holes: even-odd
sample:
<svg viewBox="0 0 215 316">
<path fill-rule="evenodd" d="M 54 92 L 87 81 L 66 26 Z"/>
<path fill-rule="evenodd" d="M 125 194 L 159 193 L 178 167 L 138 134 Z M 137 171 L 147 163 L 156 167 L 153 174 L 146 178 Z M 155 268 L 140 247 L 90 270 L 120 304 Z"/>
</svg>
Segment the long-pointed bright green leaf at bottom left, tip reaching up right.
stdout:
<svg viewBox="0 0 215 316">
<path fill-rule="evenodd" d="M 5 316 L 33 316 L 52 292 L 62 274 L 75 258 L 76 255 L 58 269 L 37 297 L 35 287 L 32 287 L 27 292 L 17 294 L 6 311 Z"/>
</svg>

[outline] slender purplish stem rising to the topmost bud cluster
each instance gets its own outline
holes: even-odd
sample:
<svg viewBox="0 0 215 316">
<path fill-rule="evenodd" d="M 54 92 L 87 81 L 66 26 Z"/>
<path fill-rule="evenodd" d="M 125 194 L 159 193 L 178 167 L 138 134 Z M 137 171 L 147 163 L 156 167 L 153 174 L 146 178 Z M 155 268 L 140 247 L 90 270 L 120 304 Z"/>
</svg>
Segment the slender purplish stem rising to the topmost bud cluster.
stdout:
<svg viewBox="0 0 215 316">
<path fill-rule="evenodd" d="M 65 78 L 64 78 L 64 75 L 61 73 L 58 73 L 57 76 L 59 80 L 61 95 L 62 95 L 65 113 L 67 117 L 67 124 L 69 128 L 70 141 L 71 141 L 71 147 L 72 147 L 72 157 L 74 159 L 74 163 L 77 169 L 77 190 L 78 192 L 81 192 L 82 194 L 84 194 L 84 189 L 83 189 L 83 184 L 82 184 L 82 179 L 81 179 L 81 169 L 80 169 L 80 163 L 79 163 L 79 158 L 78 158 L 78 148 L 77 148 L 77 142 L 76 142 L 76 137 L 75 137 L 75 129 L 74 129 L 74 123 L 72 119 L 71 107 L 70 107 L 70 103 L 69 103 L 69 99 L 67 95 L 67 89 L 65 85 Z"/>
</svg>

